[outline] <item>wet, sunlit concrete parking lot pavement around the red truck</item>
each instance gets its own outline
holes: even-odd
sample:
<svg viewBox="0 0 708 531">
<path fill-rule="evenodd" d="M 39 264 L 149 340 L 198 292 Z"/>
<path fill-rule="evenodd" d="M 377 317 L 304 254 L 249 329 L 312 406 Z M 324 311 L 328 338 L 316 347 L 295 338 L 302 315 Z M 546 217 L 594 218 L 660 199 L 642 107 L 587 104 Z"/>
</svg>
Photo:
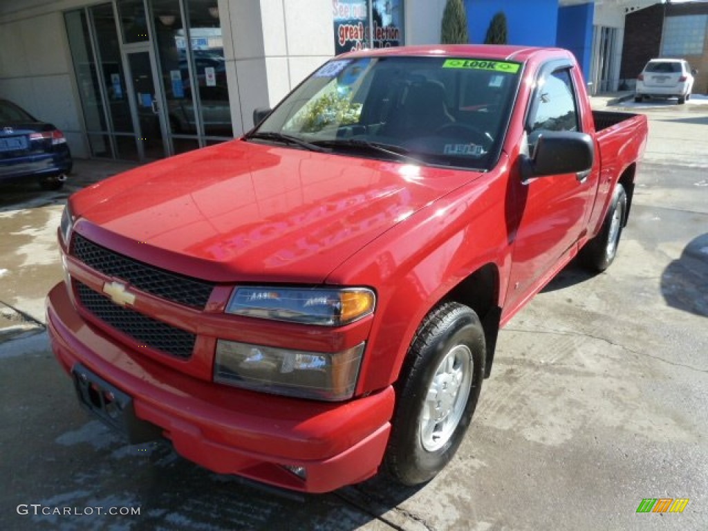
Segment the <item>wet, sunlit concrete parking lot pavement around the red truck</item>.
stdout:
<svg viewBox="0 0 708 531">
<path fill-rule="evenodd" d="M 67 193 L 129 166 L 78 161 L 61 193 L 4 190 L 0 529 L 708 529 L 702 102 L 612 107 L 650 119 L 617 260 L 595 276 L 569 265 L 501 332 L 466 440 L 418 489 L 377 478 L 282 493 L 207 472 L 166 444 L 125 445 L 76 404 L 42 301 L 62 278 L 54 241 Z M 643 498 L 689 501 L 680 514 L 636 513 Z M 57 507 L 84 514 L 42 514 Z M 98 507 L 140 514 L 85 514 Z"/>
</svg>

